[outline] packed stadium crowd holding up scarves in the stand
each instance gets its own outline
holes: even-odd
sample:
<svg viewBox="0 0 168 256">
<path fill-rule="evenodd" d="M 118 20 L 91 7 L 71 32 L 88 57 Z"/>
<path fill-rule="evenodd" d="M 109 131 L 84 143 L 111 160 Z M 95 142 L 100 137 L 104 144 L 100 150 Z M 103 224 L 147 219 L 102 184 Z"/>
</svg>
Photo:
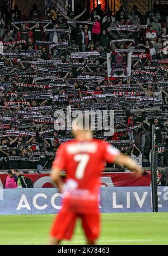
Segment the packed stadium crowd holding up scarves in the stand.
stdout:
<svg viewBox="0 0 168 256">
<path fill-rule="evenodd" d="M 0 10 L 0 169 L 50 167 L 60 143 L 71 132 L 54 130 L 54 111 L 114 110 L 115 133 L 104 137 L 142 166 L 150 166 L 151 125 L 155 124 L 158 166 L 168 153 L 168 16 L 134 6 L 115 16 L 99 4 L 54 5 L 42 15 L 18 7 Z M 108 78 L 107 53 L 132 51 L 128 77 Z M 123 50 L 123 52 L 122 52 Z M 138 52 L 139 51 L 139 52 Z"/>
</svg>

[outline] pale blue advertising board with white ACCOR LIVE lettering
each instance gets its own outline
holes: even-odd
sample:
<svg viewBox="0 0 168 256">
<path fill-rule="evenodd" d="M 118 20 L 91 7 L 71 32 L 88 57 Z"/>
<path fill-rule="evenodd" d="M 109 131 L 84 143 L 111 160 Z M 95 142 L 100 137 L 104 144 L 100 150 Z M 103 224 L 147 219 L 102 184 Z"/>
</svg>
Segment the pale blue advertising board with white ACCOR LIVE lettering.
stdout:
<svg viewBox="0 0 168 256">
<path fill-rule="evenodd" d="M 101 187 L 100 212 L 152 212 L 151 187 Z M 158 187 L 158 211 L 168 212 L 168 187 Z M 0 215 L 51 214 L 62 208 L 57 188 L 0 189 Z"/>
</svg>

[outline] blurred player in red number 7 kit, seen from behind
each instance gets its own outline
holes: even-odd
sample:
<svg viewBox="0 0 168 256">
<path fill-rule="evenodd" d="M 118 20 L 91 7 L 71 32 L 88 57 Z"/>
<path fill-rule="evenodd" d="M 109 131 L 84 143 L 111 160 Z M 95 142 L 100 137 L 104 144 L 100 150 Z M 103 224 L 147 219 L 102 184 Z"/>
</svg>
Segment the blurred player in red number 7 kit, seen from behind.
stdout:
<svg viewBox="0 0 168 256">
<path fill-rule="evenodd" d="M 83 120 L 81 119 L 81 123 Z M 57 245 L 63 239 L 71 239 L 77 218 L 81 218 L 87 244 L 95 244 L 100 232 L 98 193 L 100 173 L 104 163 L 116 163 L 142 175 L 142 169 L 129 156 L 109 143 L 92 137 L 91 130 L 83 125 L 73 125 L 74 139 L 59 146 L 53 161 L 51 177 L 63 193 L 63 207 L 55 217 L 50 231 L 49 244 Z M 67 172 L 64 185 L 60 181 L 62 170 Z"/>
</svg>

